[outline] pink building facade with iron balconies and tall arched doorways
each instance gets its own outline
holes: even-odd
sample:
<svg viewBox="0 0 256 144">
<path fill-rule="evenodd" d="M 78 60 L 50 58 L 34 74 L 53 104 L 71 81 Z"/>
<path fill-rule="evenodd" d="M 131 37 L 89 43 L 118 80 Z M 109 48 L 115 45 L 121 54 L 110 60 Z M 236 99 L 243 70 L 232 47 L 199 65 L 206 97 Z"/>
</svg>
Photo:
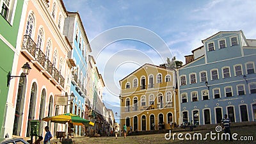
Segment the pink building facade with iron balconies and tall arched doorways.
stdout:
<svg viewBox="0 0 256 144">
<path fill-rule="evenodd" d="M 56 95 L 67 95 L 70 88 L 68 40 L 63 35 L 67 10 L 63 1 L 24 1 L 19 26 L 21 42 L 17 43 L 17 53 L 13 59 L 14 76 L 24 76 L 22 66 L 29 63 L 31 70 L 26 77 L 16 77 L 10 81 L 8 106 L 6 108 L 4 135 L 10 137 L 30 136 L 30 120 L 42 120 L 45 116 L 64 113 L 65 107 L 56 105 Z M 22 22 L 24 20 L 24 22 Z M 65 125 L 40 122 L 40 135 L 49 125 L 52 134 L 65 131 Z"/>
</svg>

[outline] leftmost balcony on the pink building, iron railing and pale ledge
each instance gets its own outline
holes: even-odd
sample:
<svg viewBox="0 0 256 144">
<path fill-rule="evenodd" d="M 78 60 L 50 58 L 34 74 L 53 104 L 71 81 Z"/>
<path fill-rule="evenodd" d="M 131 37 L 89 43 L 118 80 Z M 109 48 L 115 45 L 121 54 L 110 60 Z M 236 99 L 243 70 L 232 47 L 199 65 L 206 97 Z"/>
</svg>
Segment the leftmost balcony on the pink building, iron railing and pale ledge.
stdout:
<svg viewBox="0 0 256 144">
<path fill-rule="evenodd" d="M 24 35 L 21 52 L 29 58 L 35 60 L 36 44 L 29 35 Z"/>
</svg>

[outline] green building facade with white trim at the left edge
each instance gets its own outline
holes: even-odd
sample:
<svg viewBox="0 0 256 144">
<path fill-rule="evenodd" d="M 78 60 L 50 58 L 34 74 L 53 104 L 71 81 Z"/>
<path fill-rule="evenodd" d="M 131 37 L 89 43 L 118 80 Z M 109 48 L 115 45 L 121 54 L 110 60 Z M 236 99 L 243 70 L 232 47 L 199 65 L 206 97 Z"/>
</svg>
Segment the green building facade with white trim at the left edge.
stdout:
<svg viewBox="0 0 256 144">
<path fill-rule="evenodd" d="M 9 87 L 7 86 L 6 76 L 8 72 L 12 72 L 13 58 L 17 55 L 16 44 L 21 42 L 18 37 L 19 25 L 22 22 L 22 10 L 26 8 L 24 1 L 0 1 L 0 60 L 3 61 L 0 65 L 0 79 L 3 83 L 0 84 L 1 102 L 0 102 L 0 113 L 6 114 L 6 107 L 10 106 L 7 100 Z M 13 76 L 13 73 L 12 73 Z M 1 132 L 0 138 L 8 138 L 9 134 L 4 134 L 6 120 L 4 115 L 0 117 Z"/>
</svg>

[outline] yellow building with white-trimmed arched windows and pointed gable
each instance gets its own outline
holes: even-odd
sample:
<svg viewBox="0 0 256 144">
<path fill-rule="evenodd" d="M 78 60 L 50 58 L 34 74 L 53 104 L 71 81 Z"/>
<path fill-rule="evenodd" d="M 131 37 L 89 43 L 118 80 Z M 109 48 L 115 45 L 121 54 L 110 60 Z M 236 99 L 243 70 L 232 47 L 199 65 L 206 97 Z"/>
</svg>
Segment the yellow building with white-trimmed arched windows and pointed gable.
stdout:
<svg viewBox="0 0 256 144">
<path fill-rule="evenodd" d="M 150 131 L 170 129 L 170 124 L 177 124 L 175 70 L 146 63 L 119 83 L 121 125 L 127 125 L 128 131 L 130 126 L 132 131 Z"/>
</svg>

